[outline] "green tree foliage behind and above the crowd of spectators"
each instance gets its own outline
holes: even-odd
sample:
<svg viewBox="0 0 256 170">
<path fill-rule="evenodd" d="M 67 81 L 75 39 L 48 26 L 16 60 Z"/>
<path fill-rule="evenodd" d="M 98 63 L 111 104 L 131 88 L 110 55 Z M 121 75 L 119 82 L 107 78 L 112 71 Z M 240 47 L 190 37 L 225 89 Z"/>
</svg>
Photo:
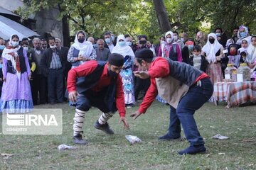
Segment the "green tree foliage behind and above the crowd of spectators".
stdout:
<svg viewBox="0 0 256 170">
<path fill-rule="evenodd" d="M 221 27 L 232 33 L 235 26 L 248 26 L 256 30 L 256 1 L 249 0 L 163 0 L 172 30 L 186 31 L 191 37 L 198 30 L 209 33 Z M 129 33 L 134 38 L 146 34 L 150 40 L 162 34 L 151 0 L 24 0 L 27 6 L 18 14 L 27 18 L 31 13 L 48 8 L 59 8 L 60 20 L 68 16 L 70 35 L 85 30 L 89 35 L 100 37 L 106 30 L 115 34 Z M 206 27 L 208 23 L 208 27 Z"/>
</svg>

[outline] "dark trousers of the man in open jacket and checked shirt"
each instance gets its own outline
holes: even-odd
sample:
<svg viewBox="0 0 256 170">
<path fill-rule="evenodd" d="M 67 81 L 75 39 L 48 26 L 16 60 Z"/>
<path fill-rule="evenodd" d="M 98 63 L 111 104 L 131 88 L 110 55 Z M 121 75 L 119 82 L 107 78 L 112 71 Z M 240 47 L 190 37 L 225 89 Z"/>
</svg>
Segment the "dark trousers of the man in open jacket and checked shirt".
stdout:
<svg viewBox="0 0 256 170">
<path fill-rule="evenodd" d="M 57 98 L 55 97 L 57 96 Z M 48 99 L 49 103 L 63 102 L 63 70 L 49 69 L 48 73 Z"/>
</svg>

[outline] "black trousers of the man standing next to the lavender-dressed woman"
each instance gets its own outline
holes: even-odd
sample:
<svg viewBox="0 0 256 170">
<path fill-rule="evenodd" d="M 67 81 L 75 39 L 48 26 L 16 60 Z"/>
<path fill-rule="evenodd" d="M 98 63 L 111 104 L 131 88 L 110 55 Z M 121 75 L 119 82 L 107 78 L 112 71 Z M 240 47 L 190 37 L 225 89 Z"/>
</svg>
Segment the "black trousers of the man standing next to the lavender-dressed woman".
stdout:
<svg viewBox="0 0 256 170">
<path fill-rule="evenodd" d="M 33 77 L 32 96 L 34 105 L 38 104 L 38 93 L 40 104 L 46 103 L 46 77 L 43 74 L 35 74 Z"/>
</svg>

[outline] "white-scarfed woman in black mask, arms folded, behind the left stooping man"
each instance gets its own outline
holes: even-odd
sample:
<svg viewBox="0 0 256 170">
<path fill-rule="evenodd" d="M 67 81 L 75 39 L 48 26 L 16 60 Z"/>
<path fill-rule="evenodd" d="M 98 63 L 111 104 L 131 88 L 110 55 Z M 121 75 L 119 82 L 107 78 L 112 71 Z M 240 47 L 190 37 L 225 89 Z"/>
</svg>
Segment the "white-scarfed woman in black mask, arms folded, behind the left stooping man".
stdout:
<svg viewBox="0 0 256 170">
<path fill-rule="evenodd" d="M 92 42 L 86 41 L 85 31 L 79 30 L 75 35 L 75 42 L 68 50 L 68 62 L 75 68 L 83 62 L 96 60 L 96 57 Z"/>
</svg>

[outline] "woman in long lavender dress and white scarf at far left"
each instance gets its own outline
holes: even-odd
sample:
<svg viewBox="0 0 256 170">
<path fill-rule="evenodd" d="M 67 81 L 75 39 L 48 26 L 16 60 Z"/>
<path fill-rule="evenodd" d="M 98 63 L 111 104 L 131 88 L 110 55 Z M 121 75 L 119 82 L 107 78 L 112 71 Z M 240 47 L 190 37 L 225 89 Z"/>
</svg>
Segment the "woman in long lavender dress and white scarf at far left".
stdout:
<svg viewBox="0 0 256 170">
<path fill-rule="evenodd" d="M 33 108 L 31 95 L 31 69 L 28 64 L 27 52 L 18 45 L 18 35 L 12 35 L 9 45 L 4 48 L 3 79 L 0 100 L 0 113 L 26 113 Z"/>
</svg>

